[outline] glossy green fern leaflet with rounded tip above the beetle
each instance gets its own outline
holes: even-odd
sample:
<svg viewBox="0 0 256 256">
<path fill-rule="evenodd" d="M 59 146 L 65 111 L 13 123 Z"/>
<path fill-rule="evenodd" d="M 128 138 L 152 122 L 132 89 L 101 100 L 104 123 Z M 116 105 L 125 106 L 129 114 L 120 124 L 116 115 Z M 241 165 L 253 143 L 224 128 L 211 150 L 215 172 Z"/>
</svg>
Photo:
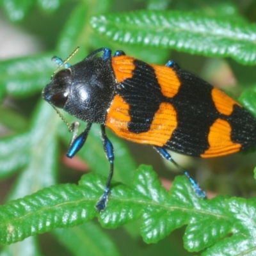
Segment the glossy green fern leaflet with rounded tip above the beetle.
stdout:
<svg viewBox="0 0 256 256">
<path fill-rule="evenodd" d="M 92 18 L 91 24 L 97 33 L 120 44 L 148 45 L 231 57 L 243 64 L 256 63 L 256 25 L 242 19 L 143 10 L 99 15 Z"/>
</svg>

